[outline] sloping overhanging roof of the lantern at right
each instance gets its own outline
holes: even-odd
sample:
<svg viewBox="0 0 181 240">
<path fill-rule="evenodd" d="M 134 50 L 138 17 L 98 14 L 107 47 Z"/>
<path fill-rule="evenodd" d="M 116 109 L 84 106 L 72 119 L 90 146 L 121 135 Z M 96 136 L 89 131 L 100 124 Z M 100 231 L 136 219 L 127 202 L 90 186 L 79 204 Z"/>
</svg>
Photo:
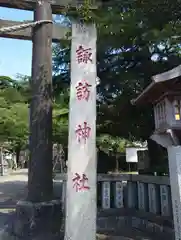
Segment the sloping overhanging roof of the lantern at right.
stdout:
<svg viewBox="0 0 181 240">
<path fill-rule="evenodd" d="M 181 65 L 153 76 L 152 83 L 131 102 L 134 105 L 155 103 L 167 95 L 181 95 Z"/>
</svg>

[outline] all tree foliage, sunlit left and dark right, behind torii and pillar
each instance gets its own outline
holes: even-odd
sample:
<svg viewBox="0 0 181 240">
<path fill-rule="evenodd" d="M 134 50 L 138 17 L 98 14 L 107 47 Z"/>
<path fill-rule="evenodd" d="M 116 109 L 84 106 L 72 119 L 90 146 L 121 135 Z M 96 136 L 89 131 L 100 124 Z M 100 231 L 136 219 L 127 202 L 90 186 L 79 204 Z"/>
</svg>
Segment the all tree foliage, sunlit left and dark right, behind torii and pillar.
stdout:
<svg viewBox="0 0 181 240">
<path fill-rule="evenodd" d="M 100 139 L 106 138 L 106 148 L 111 145 L 118 149 L 120 142 L 149 138 L 154 128 L 152 108 L 136 108 L 130 100 L 150 83 L 151 76 L 180 63 L 180 10 L 178 0 L 115 0 L 114 5 L 104 1 L 104 6 L 96 11 L 89 10 L 86 1 L 79 11 L 66 10 L 66 25 L 72 19 L 94 21 L 97 25 L 98 144 L 105 146 L 105 140 Z M 53 137 L 55 142 L 66 144 L 69 41 L 54 46 L 53 71 Z M 0 135 L 4 140 L 17 141 L 15 136 L 27 140 L 30 79 L 21 76 L 20 80 L 0 78 Z"/>
</svg>

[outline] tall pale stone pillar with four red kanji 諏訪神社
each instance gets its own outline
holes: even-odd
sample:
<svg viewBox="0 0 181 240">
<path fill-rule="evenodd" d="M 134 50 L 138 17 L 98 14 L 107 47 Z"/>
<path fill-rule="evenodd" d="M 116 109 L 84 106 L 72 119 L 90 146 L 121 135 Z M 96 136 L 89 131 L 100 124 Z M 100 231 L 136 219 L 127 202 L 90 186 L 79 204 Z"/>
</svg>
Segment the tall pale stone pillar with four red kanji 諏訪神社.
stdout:
<svg viewBox="0 0 181 240">
<path fill-rule="evenodd" d="M 96 27 L 72 25 L 65 240 L 96 239 Z"/>
</svg>

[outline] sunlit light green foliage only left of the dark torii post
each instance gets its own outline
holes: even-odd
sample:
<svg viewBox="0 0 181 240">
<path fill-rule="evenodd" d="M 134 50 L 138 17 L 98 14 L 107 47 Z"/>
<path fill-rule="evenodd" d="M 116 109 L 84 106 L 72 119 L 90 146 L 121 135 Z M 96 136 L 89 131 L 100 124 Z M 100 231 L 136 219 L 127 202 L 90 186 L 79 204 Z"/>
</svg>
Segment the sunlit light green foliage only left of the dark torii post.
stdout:
<svg viewBox="0 0 181 240">
<path fill-rule="evenodd" d="M 0 77 L 0 141 L 16 148 L 27 144 L 28 104 L 18 82 Z"/>
</svg>

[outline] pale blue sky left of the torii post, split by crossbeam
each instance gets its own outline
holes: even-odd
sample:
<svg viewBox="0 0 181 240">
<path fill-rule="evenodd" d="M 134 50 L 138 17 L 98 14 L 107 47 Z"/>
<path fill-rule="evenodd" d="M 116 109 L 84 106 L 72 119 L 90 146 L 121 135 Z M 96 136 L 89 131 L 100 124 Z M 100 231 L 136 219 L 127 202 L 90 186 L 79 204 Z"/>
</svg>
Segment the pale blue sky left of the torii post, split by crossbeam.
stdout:
<svg viewBox="0 0 181 240">
<path fill-rule="evenodd" d="M 0 19 L 32 20 L 33 12 L 0 7 Z M 31 75 L 32 43 L 0 37 L 0 75 L 16 78 L 17 74 Z"/>
</svg>

